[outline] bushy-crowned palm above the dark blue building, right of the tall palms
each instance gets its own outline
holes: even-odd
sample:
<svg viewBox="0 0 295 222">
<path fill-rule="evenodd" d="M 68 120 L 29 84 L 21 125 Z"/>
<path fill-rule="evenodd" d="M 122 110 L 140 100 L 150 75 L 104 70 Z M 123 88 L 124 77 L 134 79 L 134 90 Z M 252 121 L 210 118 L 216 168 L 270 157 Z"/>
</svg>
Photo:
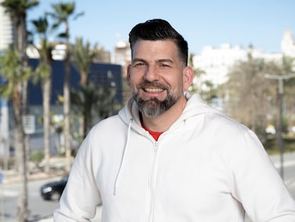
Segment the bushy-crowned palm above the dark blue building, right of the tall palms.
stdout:
<svg viewBox="0 0 295 222">
<path fill-rule="evenodd" d="M 71 54 L 71 59 L 73 60 L 74 66 L 76 67 L 76 69 L 78 69 L 80 73 L 81 87 L 82 86 L 86 87 L 88 71 L 90 69 L 93 59 L 96 56 L 96 53 L 95 51 L 90 49 L 89 41 L 87 41 L 86 44 L 84 45 L 82 38 L 76 38 L 76 44 L 71 45 L 70 54 Z M 81 90 L 83 91 L 83 89 Z M 80 136 L 82 138 L 85 138 L 88 123 L 85 122 L 86 119 L 83 118 L 83 116 L 82 118 L 80 118 L 79 121 L 80 121 L 80 130 L 79 130 Z"/>
</svg>

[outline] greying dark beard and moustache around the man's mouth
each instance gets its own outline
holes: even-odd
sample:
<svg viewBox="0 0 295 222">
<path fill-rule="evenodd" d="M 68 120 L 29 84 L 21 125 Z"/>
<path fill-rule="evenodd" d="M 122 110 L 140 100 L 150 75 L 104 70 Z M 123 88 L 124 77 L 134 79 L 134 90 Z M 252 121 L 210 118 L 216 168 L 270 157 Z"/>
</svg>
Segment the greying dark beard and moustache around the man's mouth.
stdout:
<svg viewBox="0 0 295 222">
<path fill-rule="evenodd" d="M 148 100 L 144 100 L 139 96 L 139 89 L 143 86 L 155 86 L 160 87 L 161 89 L 165 89 L 167 91 L 167 97 L 165 100 L 160 101 L 156 97 L 152 97 Z M 180 99 L 180 96 L 182 95 L 180 92 L 176 92 L 173 94 L 170 91 L 169 86 L 162 86 L 159 84 L 153 84 L 153 83 L 143 83 L 140 84 L 138 87 L 138 90 L 133 92 L 133 98 L 135 99 L 136 103 L 138 104 L 138 109 L 140 112 L 147 117 L 155 118 L 157 116 L 160 116 L 162 113 L 170 109 L 174 104 L 177 103 L 177 101 Z"/>
</svg>

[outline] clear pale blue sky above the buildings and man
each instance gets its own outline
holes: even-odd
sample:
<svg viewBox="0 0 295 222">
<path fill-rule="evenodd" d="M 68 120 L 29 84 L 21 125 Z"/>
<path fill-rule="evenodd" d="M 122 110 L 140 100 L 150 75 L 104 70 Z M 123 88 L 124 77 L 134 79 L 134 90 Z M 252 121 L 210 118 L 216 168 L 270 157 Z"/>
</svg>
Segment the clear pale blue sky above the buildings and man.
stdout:
<svg viewBox="0 0 295 222">
<path fill-rule="evenodd" d="M 58 2 L 40 0 L 28 11 L 28 19 L 53 11 L 51 4 Z M 194 54 L 200 54 L 203 46 L 223 43 L 280 52 L 284 31 L 290 29 L 295 36 L 294 0 L 76 0 L 76 13 L 81 11 L 84 16 L 70 21 L 71 41 L 83 37 L 111 52 L 118 39 L 128 40 L 135 24 L 154 18 L 169 21 Z"/>
</svg>

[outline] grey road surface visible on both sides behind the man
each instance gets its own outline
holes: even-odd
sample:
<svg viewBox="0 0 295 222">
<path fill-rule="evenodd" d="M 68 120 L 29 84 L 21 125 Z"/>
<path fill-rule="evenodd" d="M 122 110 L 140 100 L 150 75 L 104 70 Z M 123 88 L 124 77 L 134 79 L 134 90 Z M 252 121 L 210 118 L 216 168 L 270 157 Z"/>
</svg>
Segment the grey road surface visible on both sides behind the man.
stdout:
<svg viewBox="0 0 295 222">
<path fill-rule="evenodd" d="M 271 158 L 279 171 L 279 156 Z M 28 185 L 29 192 L 29 221 L 52 222 L 52 213 L 58 206 L 58 202 L 43 201 L 39 189 L 41 185 L 48 181 L 58 180 L 61 177 L 51 178 L 50 180 L 30 181 Z M 284 182 L 287 188 L 295 198 L 295 153 L 287 154 L 284 158 Z M 0 221 L 16 222 L 16 204 L 19 195 L 20 184 L 0 185 Z M 98 207 L 97 216 L 93 222 L 100 222 L 101 206 Z M 251 222 L 249 218 L 247 222 Z"/>
</svg>

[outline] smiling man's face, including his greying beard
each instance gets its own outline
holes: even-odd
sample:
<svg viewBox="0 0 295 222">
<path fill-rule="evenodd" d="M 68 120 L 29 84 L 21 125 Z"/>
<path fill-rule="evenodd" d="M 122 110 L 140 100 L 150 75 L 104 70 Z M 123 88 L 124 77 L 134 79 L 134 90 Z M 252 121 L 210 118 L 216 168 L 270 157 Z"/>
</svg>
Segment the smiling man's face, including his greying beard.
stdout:
<svg viewBox="0 0 295 222">
<path fill-rule="evenodd" d="M 173 41 L 136 42 L 127 79 L 143 115 L 157 117 L 177 105 L 183 96 L 184 70 Z"/>
</svg>

